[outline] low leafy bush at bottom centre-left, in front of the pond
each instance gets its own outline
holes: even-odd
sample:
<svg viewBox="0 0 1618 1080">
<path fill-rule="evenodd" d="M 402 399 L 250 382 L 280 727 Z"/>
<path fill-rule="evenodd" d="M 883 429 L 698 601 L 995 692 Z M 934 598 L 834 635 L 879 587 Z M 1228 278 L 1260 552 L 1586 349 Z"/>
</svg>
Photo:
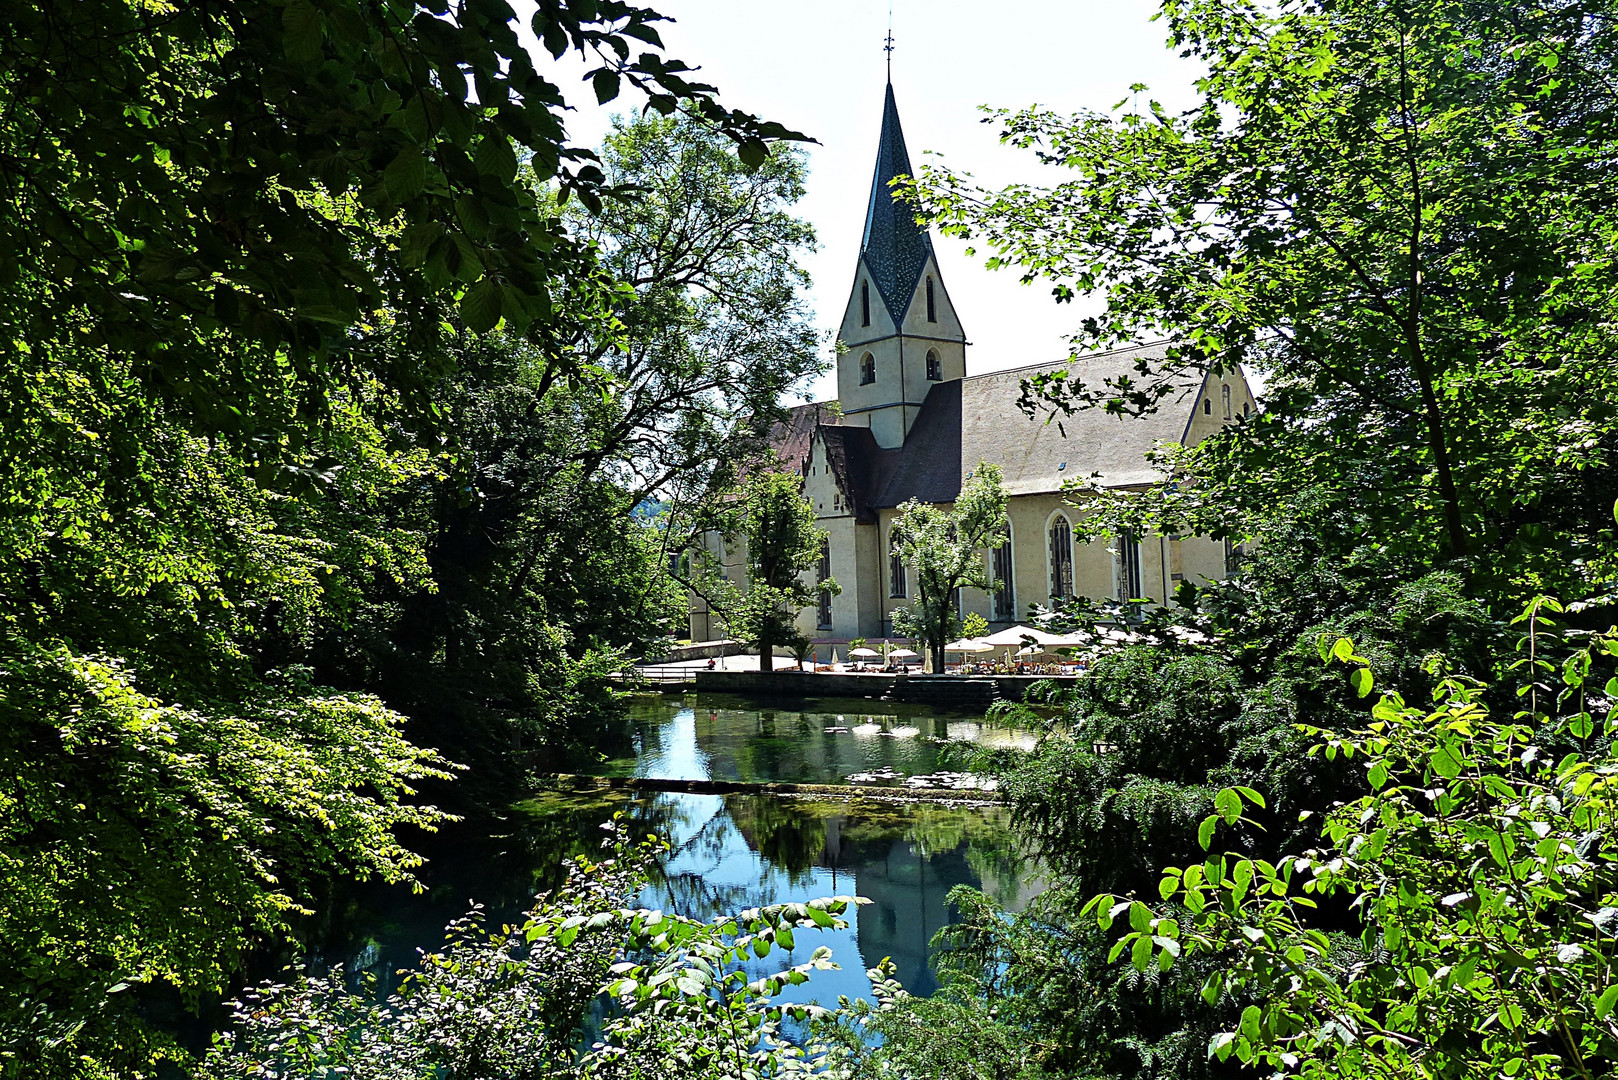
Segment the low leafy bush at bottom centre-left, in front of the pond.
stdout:
<svg viewBox="0 0 1618 1080">
<path fill-rule="evenodd" d="M 793 949 L 806 929 L 841 928 L 851 897 L 749 908 L 712 923 L 628 907 L 655 840 L 629 847 L 621 831 L 599 863 L 579 858 L 568 882 L 516 926 L 481 915 L 450 926 L 443 950 L 422 957 L 387 1001 L 340 973 L 265 984 L 236 1006 L 202 1067 L 205 1080 L 650 1080 L 809 1075 L 783 1023 L 822 1014 L 777 1001 L 815 970 L 806 963 L 749 980 L 743 963 Z M 599 1038 L 582 1054 L 584 1030 Z"/>
</svg>

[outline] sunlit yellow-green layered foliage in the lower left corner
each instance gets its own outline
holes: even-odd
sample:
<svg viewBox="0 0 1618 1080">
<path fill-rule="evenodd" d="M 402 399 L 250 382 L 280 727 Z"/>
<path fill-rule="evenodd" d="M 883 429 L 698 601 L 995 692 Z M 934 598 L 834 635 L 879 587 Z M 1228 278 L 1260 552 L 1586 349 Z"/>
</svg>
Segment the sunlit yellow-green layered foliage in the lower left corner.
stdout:
<svg viewBox="0 0 1618 1080">
<path fill-rule="evenodd" d="M 451 766 L 375 698 L 293 685 L 181 708 L 68 648 L 0 656 L 0 1067 L 129 1072 L 176 1048 L 144 1018 L 273 947 L 333 868 L 411 881 L 395 834 L 443 814 Z"/>
</svg>

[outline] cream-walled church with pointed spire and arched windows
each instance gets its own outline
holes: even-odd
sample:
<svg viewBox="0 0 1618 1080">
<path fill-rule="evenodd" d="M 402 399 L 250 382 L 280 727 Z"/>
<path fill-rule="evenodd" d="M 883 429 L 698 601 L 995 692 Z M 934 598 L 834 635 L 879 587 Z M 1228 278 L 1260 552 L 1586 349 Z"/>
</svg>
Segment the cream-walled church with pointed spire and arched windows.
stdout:
<svg viewBox="0 0 1618 1080">
<path fill-rule="evenodd" d="M 1026 622 L 1032 606 L 1087 596 L 1171 602 L 1181 580 L 1220 580 L 1233 557 L 1220 541 L 1196 536 L 1112 536 L 1076 542 L 1084 495 L 1069 481 L 1139 489 L 1162 483 L 1147 453 L 1160 444 L 1194 445 L 1257 403 L 1239 371 L 1189 381 L 1157 411 L 1120 418 L 1102 408 L 1060 421 L 1018 408 L 1021 384 L 1065 364 L 990 374 L 966 372 L 966 330 L 938 272 L 932 236 L 895 202 L 888 181 L 909 175 L 892 83 L 882 112 L 875 176 L 853 290 L 838 332 L 837 402 L 793 410 L 777 427 L 775 452 L 804 478 L 804 494 L 828 534 L 819 573 L 841 594 L 799 615 L 799 630 L 825 646 L 883 638 L 893 612 L 914 597 L 911 570 L 890 552 L 896 507 L 909 499 L 953 504 L 979 461 L 1005 474 L 1008 529 L 985 551 L 992 591 L 963 589 L 961 612 L 979 612 L 998 630 Z M 1076 361 L 1086 384 L 1131 374 L 1162 358 L 1167 342 L 1097 353 Z M 1071 486 L 1069 486 L 1071 487 Z M 707 538 L 709 552 L 735 581 L 746 580 L 744 552 Z M 722 636 L 717 615 L 693 601 L 691 636 Z"/>
</svg>

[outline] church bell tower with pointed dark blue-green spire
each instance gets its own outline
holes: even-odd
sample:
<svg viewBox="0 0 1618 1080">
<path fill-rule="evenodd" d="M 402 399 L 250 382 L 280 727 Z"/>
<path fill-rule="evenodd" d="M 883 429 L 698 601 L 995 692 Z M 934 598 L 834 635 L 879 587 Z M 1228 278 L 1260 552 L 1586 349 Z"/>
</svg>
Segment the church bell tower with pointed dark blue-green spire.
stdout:
<svg viewBox="0 0 1618 1080">
<path fill-rule="evenodd" d="M 880 447 L 898 447 L 935 382 L 966 376 L 966 334 L 943 288 L 932 236 L 888 181 L 911 173 L 900 110 L 888 81 L 877 170 L 866 206 L 854 288 L 843 311 L 837 397 L 845 424 L 870 427 Z"/>
</svg>

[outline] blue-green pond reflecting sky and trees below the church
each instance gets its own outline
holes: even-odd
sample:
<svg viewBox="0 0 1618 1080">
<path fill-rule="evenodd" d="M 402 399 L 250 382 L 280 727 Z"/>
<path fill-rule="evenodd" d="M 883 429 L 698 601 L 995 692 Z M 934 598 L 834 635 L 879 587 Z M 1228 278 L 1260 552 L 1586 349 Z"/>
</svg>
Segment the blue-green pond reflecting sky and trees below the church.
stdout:
<svg viewBox="0 0 1618 1080">
<path fill-rule="evenodd" d="M 888 711 L 877 711 L 888 709 Z M 938 767 L 947 740 L 1031 745 L 1027 732 L 982 719 L 870 701 L 806 701 L 759 708 L 735 698 L 642 698 L 629 714 L 633 758 L 604 776 L 840 784 L 856 774 L 917 776 Z M 594 850 L 600 824 L 623 811 L 634 834 L 657 832 L 671 852 L 639 902 L 710 918 L 746 907 L 861 895 L 843 931 L 801 934 L 796 955 L 754 960 L 757 972 L 803 963 L 828 946 L 838 972 L 794 988 L 796 1001 L 833 1004 L 867 994 L 866 968 L 892 957 L 913 993 L 935 988 L 929 942 L 953 912 L 958 884 L 1021 908 L 1042 887 L 1016 850 L 1006 811 L 993 805 L 901 803 L 879 798 L 691 795 L 668 792 L 547 792 L 497 821 L 440 834 L 424 868 L 424 895 L 403 889 L 359 894 L 333 920 L 317 963 L 371 970 L 385 984 L 443 939 L 443 925 L 484 904 L 510 920 L 555 884 L 561 861 Z"/>
</svg>

